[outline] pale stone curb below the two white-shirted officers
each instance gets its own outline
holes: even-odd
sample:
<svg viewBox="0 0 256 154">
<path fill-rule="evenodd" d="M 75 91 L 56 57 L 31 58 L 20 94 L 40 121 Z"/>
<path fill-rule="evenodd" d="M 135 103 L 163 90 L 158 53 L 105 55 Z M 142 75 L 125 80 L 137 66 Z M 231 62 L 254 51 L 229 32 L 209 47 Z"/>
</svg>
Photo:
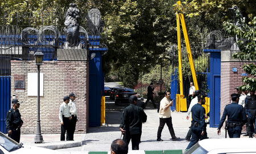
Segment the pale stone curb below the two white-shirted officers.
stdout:
<svg viewBox="0 0 256 154">
<path fill-rule="evenodd" d="M 47 148 L 47 149 L 64 149 L 64 148 L 73 148 L 73 147 L 81 147 L 82 142 L 72 142 L 72 143 L 59 143 L 59 144 L 49 144 L 44 146 L 36 146 L 40 148 Z"/>
</svg>

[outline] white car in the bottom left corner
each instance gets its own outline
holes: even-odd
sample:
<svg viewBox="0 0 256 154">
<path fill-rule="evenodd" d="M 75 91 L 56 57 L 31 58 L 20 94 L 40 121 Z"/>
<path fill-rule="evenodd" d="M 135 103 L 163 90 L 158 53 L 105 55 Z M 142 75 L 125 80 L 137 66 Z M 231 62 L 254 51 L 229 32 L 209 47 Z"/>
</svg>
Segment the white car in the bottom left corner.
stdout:
<svg viewBox="0 0 256 154">
<path fill-rule="evenodd" d="M 7 153 L 16 153 L 16 154 L 48 154 L 53 153 L 57 154 L 59 152 L 54 151 L 52 149 L 46 149 L 46 148 L 39 148 L 39 147 L 33 147 L 33 146 L 26 146 L 22 143 L 17 143 L 15 140 L 9 138 L 2 132 L 0 132 L 0 154 L 7 154 Z"/>
</svg>

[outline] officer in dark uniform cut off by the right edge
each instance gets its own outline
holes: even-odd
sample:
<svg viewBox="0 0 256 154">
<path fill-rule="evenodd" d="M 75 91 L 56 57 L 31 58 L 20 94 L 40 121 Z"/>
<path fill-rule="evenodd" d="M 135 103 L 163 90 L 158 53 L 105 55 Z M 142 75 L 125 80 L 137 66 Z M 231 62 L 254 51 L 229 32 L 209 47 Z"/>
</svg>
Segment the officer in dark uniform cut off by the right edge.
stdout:
<svg viewBox="0 0 256 154">
<path fill-rule="evenodd" d="M 246 96 L 245 98 L 245 110 L 247 114 L 247 123 L 248 123 L 248 131 L 249 138 L 253 138 L 253 132 L 256 131 L 256 127 L 253 127 L 253 123 L 255 124 L 255 116 L 256 116 L 256 97 L 255 91 L 250 91 L 250 96 Z M 256 137 L 256 135 L 255 135 Z"/>
</svg>

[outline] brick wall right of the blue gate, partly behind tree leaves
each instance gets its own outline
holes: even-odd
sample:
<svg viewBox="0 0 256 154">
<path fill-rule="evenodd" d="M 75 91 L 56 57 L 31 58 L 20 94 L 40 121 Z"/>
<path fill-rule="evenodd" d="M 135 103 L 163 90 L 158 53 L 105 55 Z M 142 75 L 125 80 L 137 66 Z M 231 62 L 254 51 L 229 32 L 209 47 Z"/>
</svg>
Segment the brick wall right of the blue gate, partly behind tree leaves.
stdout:
<svg viewBox="0 0 256 154">
<path fill-rule="evenodd" d="M 250 62 L 221 62 L 221 116 L 225 106 L 231 102 L 230 95 L 237 92 L 238 86 L 243 85 L 241 74 L 245 71 L 242 66 L 246 63 Z M 237 68 L 237 72 L 233 72 L 233 68 Z"/>
</svg>

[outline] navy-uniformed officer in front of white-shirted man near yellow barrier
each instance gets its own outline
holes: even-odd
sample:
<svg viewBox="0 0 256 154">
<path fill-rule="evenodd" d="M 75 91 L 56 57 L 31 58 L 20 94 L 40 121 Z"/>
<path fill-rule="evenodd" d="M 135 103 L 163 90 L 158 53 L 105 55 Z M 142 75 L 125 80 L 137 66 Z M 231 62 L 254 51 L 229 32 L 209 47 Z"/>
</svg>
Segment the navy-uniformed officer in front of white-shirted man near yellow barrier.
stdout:
<svg viewBox="0 0 256 154">
<path fill-rule="evenodd" d="M 205 109 L 202 105 L 205 104 L 205 96 L 199 95 L 197 96 L 198 103 L 194 105 L 191 109 L 192 112 L 192 124 L 191 124 L 191 131 L 192 131 L 192 138 L 191 142 L 188 144 L 186 150 L 191 148 L 195 145 L 201 136 L 205 134 L 206 131 L 206 123 L 205 123 Z"/>
</svg>

